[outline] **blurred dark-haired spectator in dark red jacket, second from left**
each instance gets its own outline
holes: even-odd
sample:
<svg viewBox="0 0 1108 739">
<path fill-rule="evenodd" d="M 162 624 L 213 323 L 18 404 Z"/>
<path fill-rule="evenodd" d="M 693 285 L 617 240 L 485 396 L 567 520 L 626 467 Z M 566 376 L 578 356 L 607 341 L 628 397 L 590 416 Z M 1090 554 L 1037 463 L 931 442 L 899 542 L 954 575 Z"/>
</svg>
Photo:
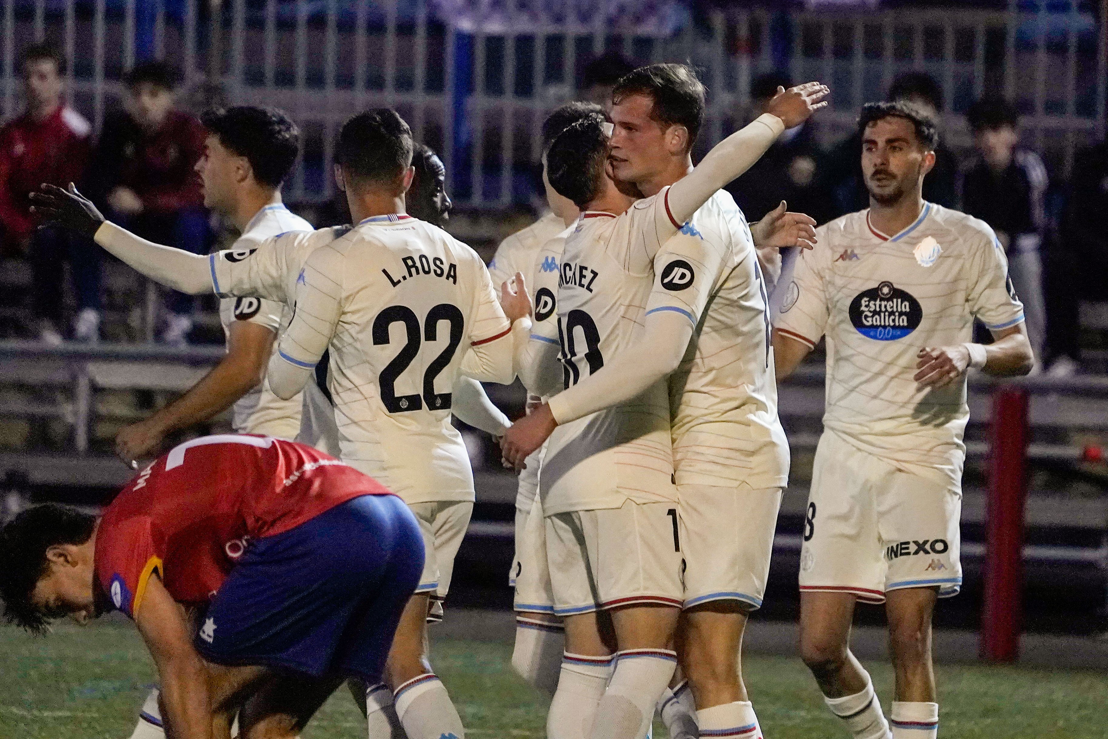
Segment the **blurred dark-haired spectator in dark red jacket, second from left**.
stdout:
<svg viewBox="0 0 1108 739">
<path fill-rule="evenodd" d="M 177 72 L 163 62 L 137 64 L 126 78 L 126 111 L 104 121 L 89 173 L 90 196 L 109 217 L 156 244 L 207 250 L 209 228 L 201 181 L 204 126 L 176 110 Z M 182 346 L 192 329 L 193 298 L 172 292 L 161 339 Z"/>
</svg>

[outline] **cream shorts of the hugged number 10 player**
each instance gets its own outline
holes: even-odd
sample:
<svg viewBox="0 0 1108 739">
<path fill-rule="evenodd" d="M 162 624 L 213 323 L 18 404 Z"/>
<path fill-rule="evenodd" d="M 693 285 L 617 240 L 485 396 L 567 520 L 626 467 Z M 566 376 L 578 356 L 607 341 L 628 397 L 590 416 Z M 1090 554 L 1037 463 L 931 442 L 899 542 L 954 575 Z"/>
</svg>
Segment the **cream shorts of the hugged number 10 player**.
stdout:
<svg viewBox="0 0 1108 739">
<path fill-rule="evenodd" d="M 554 613 L 573 616 L 635 604 L 680 607 L 677 506 L 635 503 L 546 516 Z"/>
</svg>

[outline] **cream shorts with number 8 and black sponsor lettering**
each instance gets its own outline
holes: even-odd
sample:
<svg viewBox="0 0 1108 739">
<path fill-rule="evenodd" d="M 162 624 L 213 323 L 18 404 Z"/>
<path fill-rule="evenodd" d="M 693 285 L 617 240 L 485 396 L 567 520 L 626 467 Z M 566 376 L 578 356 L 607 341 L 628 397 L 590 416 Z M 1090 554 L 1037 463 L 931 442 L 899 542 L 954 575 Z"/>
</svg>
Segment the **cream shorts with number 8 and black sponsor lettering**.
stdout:
<svg viewBox="0 0 1108 739">
<path fill-rule="evenodd" d="M 800 589 L 853 593 L 866 603 L 905 587 L 957 594 L 962 491 L 941 480 L 938 471 L 905 471 L 824 431 L 812 469 Z"/>
</svg>

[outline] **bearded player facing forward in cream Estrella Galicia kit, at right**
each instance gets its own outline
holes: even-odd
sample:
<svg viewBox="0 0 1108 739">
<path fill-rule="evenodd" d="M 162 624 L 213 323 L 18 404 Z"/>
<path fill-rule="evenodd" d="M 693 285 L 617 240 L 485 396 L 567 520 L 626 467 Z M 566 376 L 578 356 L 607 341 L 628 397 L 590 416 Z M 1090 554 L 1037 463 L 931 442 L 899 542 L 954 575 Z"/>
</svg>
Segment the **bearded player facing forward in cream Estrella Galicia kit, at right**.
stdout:
<svg viewBox="0 0 1108 739">
<path fill-rule="evenodd" d="M 938 730 L 936 598 L 962 585 L 958 516 L 965 376 L 1034 362 L 1004 250 L 982 220 L 922 197 L 935 124 L 911 103 L 859 119 L 870 207 L 817 229 L 773 333 L 778 378 L 827 337 L 827 410 L 800 557 L 800 648 L 828 707 L 859 739 L 889 723 L 850 651 L 858 601 L 884 603 L 895 670 L 892 737 Z M 974 319 L 993 342 L 973 343 Z"/>
</svg>

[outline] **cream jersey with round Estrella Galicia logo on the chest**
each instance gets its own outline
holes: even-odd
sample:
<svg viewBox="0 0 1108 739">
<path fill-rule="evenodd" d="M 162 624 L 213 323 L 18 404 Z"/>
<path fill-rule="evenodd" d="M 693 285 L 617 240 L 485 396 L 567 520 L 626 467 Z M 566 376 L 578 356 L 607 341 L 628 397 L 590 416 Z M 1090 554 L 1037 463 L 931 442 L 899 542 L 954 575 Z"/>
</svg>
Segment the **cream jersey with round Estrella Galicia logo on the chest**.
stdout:
<svg viewBox="0 0 1108 739">
<path fill-rule="evenodd" d="M 777 329 L 814 347 L 827 336 L 823 425 L 862 451 L 940 481 L 958 482 L 970 409 L 965 380 L 921 389 L 923 347 L 971 341 L 1024 320 L 1007 260 L 982 220 L 925 203 L 895 235 L 869 211 L 817 229 L 787 287 Z"/>
</svg>

